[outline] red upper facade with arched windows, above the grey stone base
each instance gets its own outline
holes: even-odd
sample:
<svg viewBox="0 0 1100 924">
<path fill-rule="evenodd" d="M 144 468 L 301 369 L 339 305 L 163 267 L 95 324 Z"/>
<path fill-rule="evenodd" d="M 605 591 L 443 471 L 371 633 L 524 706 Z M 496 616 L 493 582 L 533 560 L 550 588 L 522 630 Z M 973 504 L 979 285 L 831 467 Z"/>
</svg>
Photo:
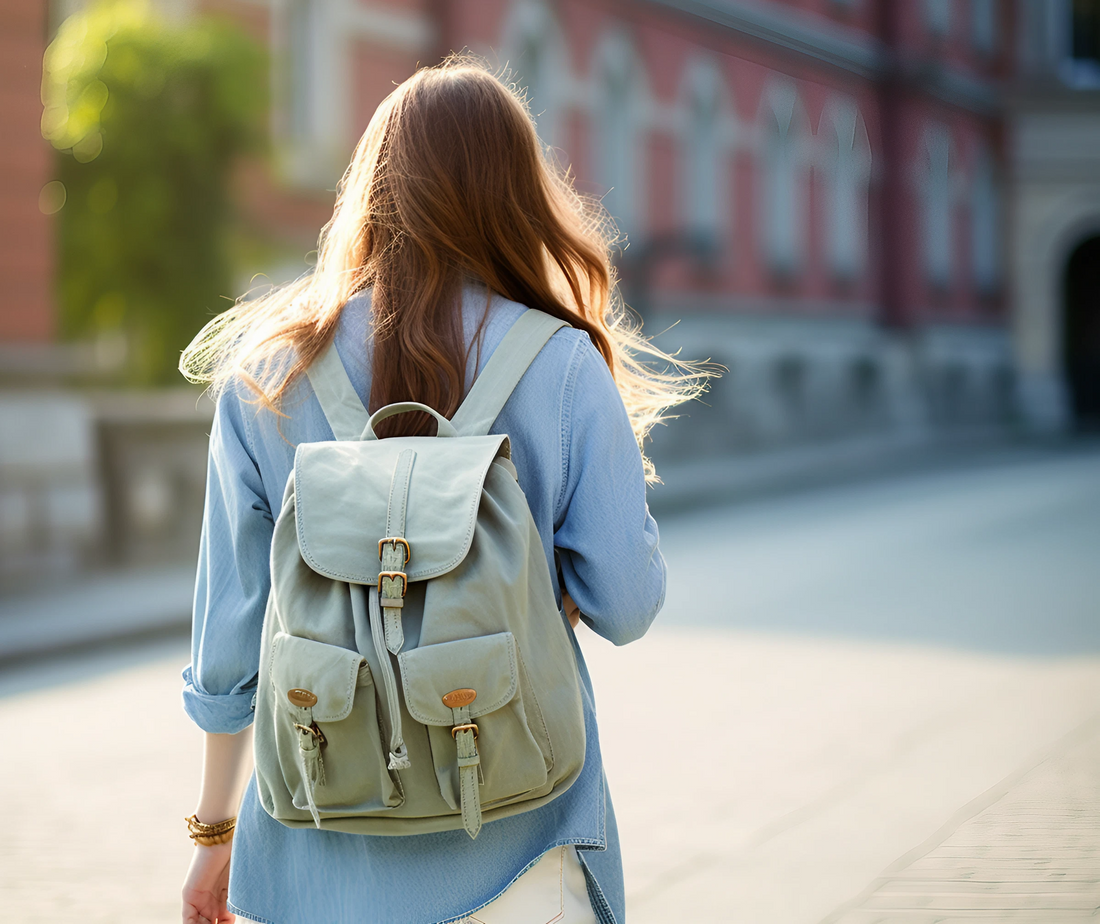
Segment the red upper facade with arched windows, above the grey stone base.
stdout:
<svg viewBox="0 0 1100 924">
<path fill-rule="evenodd" d="M 631 249 L 712 239 L 702 274 L 666 249 L 649 280 L 662 304 L 901 326 L 1002 314 L 1004 3 L 201 6 L 272 44 L 293 186 L 331 187 L 392 82 L 470 48 L 510 65 Z"/>
</svg>

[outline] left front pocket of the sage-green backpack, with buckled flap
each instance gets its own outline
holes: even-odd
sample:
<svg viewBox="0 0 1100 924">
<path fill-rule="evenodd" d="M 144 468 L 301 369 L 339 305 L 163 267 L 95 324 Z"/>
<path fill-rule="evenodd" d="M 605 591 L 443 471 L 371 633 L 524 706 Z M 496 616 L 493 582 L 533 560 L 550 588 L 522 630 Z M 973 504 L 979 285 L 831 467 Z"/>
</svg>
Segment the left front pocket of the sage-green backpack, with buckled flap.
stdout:
<svg viewBox="0 0 1100 924">
<path fill-rule="evenodd" d="M 386 769 L 374 679 L 358 651 L 279 632 L 275 743 L 294 805 L 320 815 L 400 805 Z"/>
</svg>

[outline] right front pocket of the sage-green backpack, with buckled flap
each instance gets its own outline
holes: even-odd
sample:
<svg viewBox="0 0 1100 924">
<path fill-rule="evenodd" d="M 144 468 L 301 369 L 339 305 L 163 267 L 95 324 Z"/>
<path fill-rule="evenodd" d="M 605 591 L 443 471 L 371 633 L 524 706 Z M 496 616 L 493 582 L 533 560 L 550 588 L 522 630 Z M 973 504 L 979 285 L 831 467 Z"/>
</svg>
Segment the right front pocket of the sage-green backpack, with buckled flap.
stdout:
<svg viewBox="0 0 1100 924">
<path fill-rule="evenodd" d="M 512 632 L 415 648 L 398 656 L 409 715 L 428 726 L 439 791 L 463 806 L 462 768 L 476 769 L 481 805 L 505 802 L 547 782 L 547 759 L 528 715 Z M 466 735 L 465 739 L 461 736 Z M 463 741 L 466 754 L 463 756 Z M 474 779 L 473 769 L 466 771 Z"/>
</svg>

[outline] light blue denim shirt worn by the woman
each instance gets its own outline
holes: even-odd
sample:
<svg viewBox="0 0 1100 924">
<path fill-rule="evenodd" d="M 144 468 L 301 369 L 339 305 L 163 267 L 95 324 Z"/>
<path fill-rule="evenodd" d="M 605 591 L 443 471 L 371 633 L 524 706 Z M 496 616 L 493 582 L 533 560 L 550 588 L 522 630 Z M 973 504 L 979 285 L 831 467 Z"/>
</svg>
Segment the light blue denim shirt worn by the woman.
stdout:
<svg viewBox="0 0 1100 924">
<path fill-rule="evenodd" d="M 484 289 L 465 290 L 468 342 L 485 304 Z M 470 381 L 522 310 L 492 300 Z M 336 336 L 364 404 L 369 315 L 369 295 L 351 299 Z M 206 732 L 240 732 L 253 719 L 274 519 L 295 447 L 333 438 L 304 376 L 282 406 L 287 417 L 249 402 L 243 387 L 222 395 L 210 433 L 191 664 L 184 671 L 184 708 Z M 550 573 L 560 564 L 584 622 L 616 645 L 639 638 L 663 602 L 664 560 L 626 409 L 586 334 L 566 328 L 553 336 L 492 432 L 512 440 Z M 285 827 L 261 807 L 253 778 L 234 838 L 231 909 L 270 924 L 451 922 L 501 894 L 543 851 L 575 844 L 598 919 L 622 924 L 623 866 L 592 681 L 575 637 L 573 647 L 587 749 L 581 776 L 563 795 L 486 824 L 476 840 L 464 831 L 374 837 Z"/>
</svg>

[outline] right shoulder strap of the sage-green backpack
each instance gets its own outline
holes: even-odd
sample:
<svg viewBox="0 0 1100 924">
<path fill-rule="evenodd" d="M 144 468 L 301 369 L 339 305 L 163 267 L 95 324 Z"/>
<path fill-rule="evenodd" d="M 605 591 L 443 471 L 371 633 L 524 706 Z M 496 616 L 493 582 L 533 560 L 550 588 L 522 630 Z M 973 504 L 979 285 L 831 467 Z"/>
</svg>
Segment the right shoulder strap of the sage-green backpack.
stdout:
<svg viewBox="0 0 1100 924">
<path fill-rule="evenodd" d="M 528 308 L 519 316 L 451 418 L 460 436 L 475 437 L 488 432 L 528 366 L 547 341 L 563 327 L 569 324 L 535 308 Z"/>
</svg>

